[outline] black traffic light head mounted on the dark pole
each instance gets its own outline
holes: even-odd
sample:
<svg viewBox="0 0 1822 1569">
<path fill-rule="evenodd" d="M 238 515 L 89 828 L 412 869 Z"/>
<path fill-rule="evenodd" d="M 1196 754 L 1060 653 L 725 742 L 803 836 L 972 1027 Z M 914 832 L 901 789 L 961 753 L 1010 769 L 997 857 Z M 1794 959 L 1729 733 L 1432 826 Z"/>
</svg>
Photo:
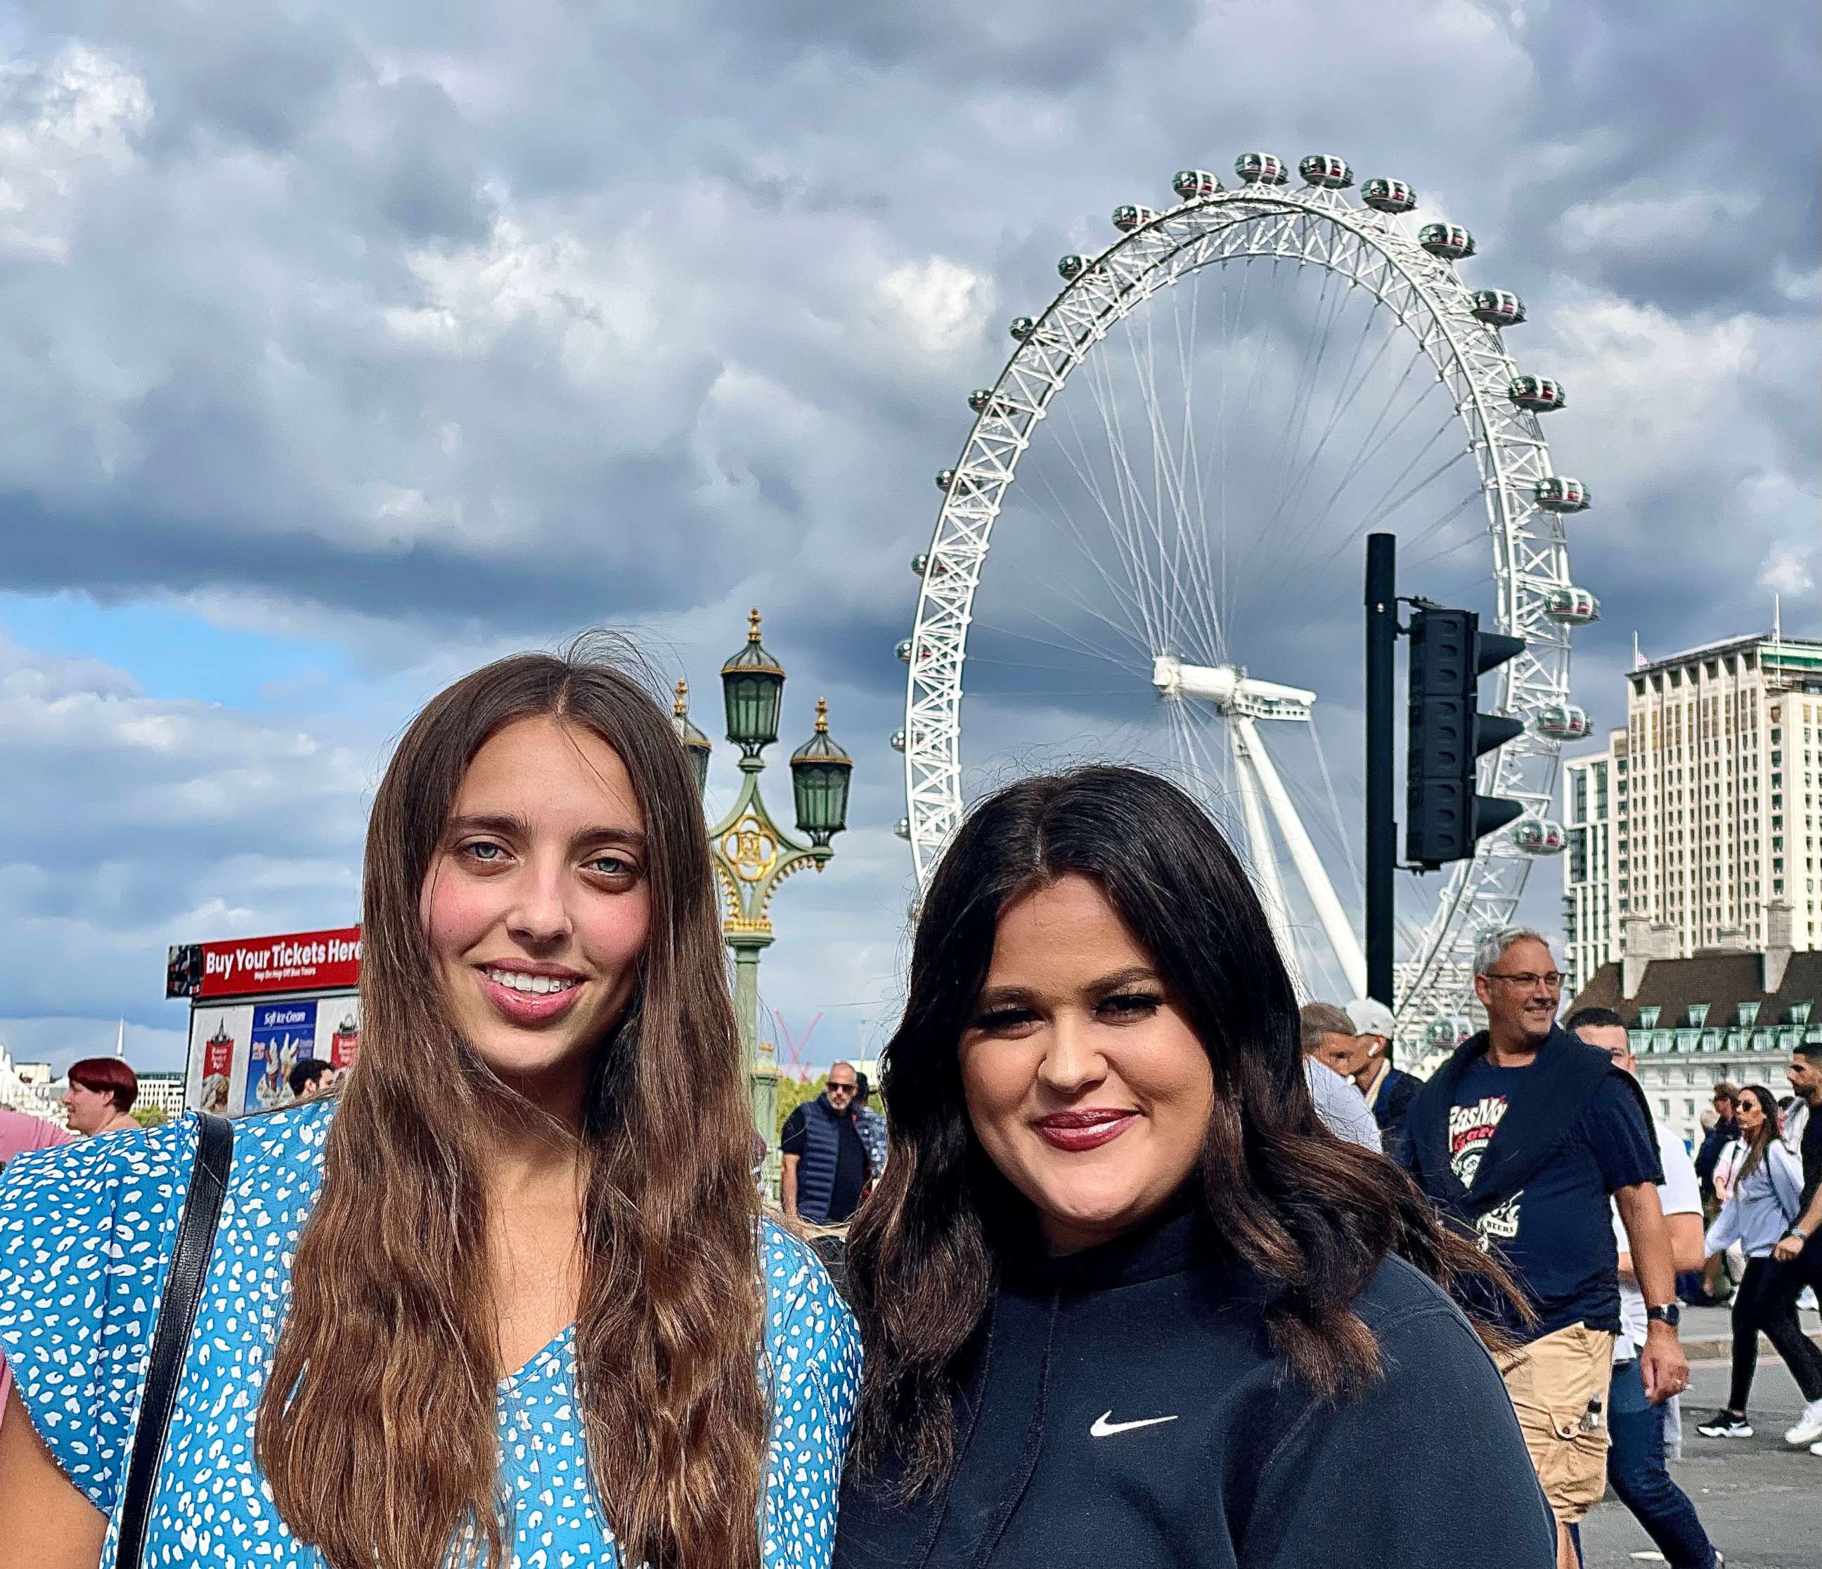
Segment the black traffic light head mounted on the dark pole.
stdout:
<svg viewBox="0 0 1822 1569">
<path fill-rule="evenodd" d="M 1421 603 L 1412 610 L 1405 860 L 1430 871 L 1467 860 L 1476 840 L 1523 813 L 1516 800 L 1474 791 L 1481 754 L 1525 729 L 1479 713 L 1479 678 L 1523 649 L 1523 638 L 1483 632 L 1474 610 Z"/>
</svg>

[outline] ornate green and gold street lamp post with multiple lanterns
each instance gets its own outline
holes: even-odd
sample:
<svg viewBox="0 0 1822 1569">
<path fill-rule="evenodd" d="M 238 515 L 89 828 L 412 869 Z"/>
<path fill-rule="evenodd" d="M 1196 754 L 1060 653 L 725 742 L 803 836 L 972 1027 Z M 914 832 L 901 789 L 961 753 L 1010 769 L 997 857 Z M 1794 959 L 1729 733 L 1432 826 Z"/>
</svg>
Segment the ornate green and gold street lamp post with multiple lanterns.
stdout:
<svg viewBox="0 0 1822 1569">
<path fill-rule="evenodd" d="M 778 884 L 834 855 L 829 840 L 847 827 L 847 785 L 855 760 L 829 734 L 829 705 L 816 700 L 816 731 L 791 754 L 791 791 L 796 796 L 796 827 L 809 838 L 787 835 L 760 796 L 762 753 L 778 740 L 778 711 L 785 672 L 760 643 L 760 612 L 747 616 L 747 643 L 722 665 L 722 696 L 727 703 L 727 738 L 740 747 L 740 796 L 709 831 L 709 853 L 722 886 L 722 933 L 734 951 L 734 1011 L 747 1059 L 752 1126 L 767 1144 L 765 1177 L 776 1181 L 778 1068 L 767 1053 L 760 1061 L 760 953 L 773 944 L 769 906 Z M 678 682 L 672 723 L 696 765 L 696 787 L 709 778 L 709 738 L 689 718 L 689 687 Z"/>
</svg>

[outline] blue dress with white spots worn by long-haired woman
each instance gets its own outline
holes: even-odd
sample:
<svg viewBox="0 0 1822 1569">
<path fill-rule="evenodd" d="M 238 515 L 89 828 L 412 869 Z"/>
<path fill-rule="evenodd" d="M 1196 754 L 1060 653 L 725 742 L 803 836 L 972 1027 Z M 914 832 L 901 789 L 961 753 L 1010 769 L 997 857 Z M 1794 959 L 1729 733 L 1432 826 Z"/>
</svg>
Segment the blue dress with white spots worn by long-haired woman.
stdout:
<svg viewBox="0 0 1822 1569">
<path fill-rule="evenodd" d="M 322 1177 L 332 1101 L 235 1128 L 233 1172 L 159 1471 L 148 1565 L 308 1569 L 253 1461 L 253 1420 Z M 0 1354 L 33 1425 L 107 1516 L 118 1505 L 197 1121 L 20 1155 L 0 1175 Z M 763 1370 L 773 1389 L 765 1569 L 825 1569 L 860 1339 L 816 1257 L 767 1223 Z M 570 1330 L 499 1381 L 514 1569 L 619 1569 L 587 1474 Z"/>
</svg>

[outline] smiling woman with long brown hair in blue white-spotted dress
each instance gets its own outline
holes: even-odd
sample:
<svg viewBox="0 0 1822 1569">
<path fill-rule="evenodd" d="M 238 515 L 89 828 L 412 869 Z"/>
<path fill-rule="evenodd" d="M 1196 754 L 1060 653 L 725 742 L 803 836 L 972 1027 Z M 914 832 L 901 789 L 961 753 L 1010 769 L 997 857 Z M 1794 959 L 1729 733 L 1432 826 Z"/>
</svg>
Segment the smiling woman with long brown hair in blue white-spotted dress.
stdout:
<svg viewBox="0 0 1822 1569">
<path fill-rule="evenodd" d="M 521 654 L 437 696 L 363 948 L 348 1082 L 237 1124 L 144 1562 L 825 1564 L 858 1343 L 758 1212 L 696 785 L 640 682 Z M 0 1569 L 115 1562 L 195 1146 L 0 1184 Z"/>
</svg>

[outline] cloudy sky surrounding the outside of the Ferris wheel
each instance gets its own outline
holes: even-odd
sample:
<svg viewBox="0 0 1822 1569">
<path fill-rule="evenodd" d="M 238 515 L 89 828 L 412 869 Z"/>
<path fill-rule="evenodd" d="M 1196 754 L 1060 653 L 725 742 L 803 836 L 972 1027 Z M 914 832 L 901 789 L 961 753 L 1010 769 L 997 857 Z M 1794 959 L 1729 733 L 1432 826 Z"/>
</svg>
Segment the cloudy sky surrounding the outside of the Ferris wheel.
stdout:
<svg viewBox="0 0 1822 1569">
<path fill-rule="evenodd" d="M 1527 361 L 1572 397 L 1558 468 L 1600 501 L 1571 547 L 1605 605 L 1576 641 L 1598 725 L 1634 631 L 1767 629 L 1782 592 L 1822 634 L 1817 22 L 1640 16 L 22 0 L 0 1033 L 62 1064 L 124 1015 L 135 1062 L 179 1066 L 166 944 L 353 920 L 374 780 L 441 683 L 614 625 L 714 698 L 760 605 L 787 740 L 825 694 L 858 760 L 765 997 L 800 1035 L 822 1015 L 814 1061 L 876 1044 L 931 474 L 1055 257 L 1250 148 L 1408 179 L 1474 228 L 1463 277 L 1525 295 Z M 1348 647 L 1357 614 L 1337 592 Z"/>
</svg>

